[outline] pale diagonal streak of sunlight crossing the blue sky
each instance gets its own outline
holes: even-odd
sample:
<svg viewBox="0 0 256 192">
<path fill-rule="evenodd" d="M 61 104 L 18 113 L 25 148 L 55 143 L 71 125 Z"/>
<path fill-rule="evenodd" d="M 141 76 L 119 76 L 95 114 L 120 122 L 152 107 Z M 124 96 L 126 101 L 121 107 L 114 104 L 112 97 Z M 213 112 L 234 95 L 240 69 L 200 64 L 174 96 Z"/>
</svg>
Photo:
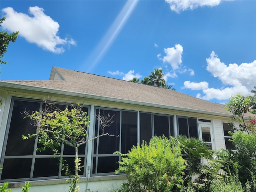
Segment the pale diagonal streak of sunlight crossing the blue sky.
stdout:
<svg viewBox="0 0 256 192">
<path fill-rule="evenodd" d="M 106 54 L 116 37 L 118 36 L 118 33 L 132 14 L 132 11 L 136 7 L 138 0 L 128 0 L 102 40 L 99 42 L 99 44 L 94 48 L 90 56 L 86 59 L 86 62 L 84 62 L 84 70 L 86 72 L 90 72 L 102 59 L 102 57 Z M 88 67 L 89 65 L 89 67 Z M 86 69 L 85 69 L 86 67 Z"/>
</svg>

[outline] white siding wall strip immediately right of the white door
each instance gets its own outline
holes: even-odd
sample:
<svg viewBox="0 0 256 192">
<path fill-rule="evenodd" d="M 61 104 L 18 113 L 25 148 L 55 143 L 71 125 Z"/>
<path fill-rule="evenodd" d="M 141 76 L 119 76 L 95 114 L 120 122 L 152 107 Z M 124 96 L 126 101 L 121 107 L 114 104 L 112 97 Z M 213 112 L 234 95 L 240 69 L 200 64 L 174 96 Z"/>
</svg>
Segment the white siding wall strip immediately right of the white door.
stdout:
<svg viewBox="0 0 256 192">
<path fill-rule="evenodd" d="M 221 150 L 225 149 L 225 140 L 224 140 L 224 132 L 222 127 L 222 121 L 218 119 L 213 120 L 213 132 L 214 132 L 214 142 L 215 149 Z"/>
</svg>

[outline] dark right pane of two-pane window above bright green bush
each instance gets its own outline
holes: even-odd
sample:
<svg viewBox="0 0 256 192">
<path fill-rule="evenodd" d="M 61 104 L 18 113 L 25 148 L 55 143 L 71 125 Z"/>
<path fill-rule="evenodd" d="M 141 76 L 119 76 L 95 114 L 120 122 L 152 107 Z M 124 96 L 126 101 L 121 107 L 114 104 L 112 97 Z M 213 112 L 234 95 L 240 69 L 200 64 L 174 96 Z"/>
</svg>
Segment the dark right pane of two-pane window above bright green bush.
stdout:
<svg viewBox="0 0 256 192">
<path fill-rule="evenodd" d="M 169 134 L 169 117 L 154 115 L 154 135 L 156 136 L 170 136 Z"/>
</svg>

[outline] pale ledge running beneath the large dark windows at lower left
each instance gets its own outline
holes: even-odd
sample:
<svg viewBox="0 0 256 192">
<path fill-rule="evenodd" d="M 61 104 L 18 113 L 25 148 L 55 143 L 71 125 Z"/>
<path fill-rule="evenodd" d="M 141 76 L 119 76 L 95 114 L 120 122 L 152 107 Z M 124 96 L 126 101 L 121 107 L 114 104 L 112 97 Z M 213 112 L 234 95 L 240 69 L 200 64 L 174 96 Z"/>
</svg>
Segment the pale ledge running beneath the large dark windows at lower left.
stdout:
<svg viewBox="0 0 256 192">
<path fill-rule="evenodd" d="M 56 185 L 56 184 L 67 184 L 68 178 L 62 179 L 49 179 L 49 180 L 36 180 L 30 181 L 31 186 L 43 186 L 43 185 Z M 120 180 L 127 179 L 126 175 L 110 175 L 110 176 L 94 176 L 89 178 L 89 182 L 106 181 L 106 180 Z M 28 182 L 28 181 L 27 181 Z M 86 177 L 81 177 L 79 182 L 87 182 Z M 8 188 L 16 188 L 24 186 L 25 182 L 10 182 Z M 0 183 L 2 185 L 3 183 Z"/>
</svg>

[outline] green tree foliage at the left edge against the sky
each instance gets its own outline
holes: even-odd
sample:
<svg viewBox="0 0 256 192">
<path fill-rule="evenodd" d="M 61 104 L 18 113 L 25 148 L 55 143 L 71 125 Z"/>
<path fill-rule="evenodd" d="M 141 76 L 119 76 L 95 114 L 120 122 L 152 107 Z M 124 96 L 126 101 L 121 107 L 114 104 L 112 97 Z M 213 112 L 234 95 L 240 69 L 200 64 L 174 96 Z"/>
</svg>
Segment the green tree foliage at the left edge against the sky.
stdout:
<svg viewBox="0 0 256 192">
<path fill-rule="evenodd" d="M 0 19 L 0 26 L 1 23 L 5 21 L 5 18 L 3 17 Z M 0 31 L 0 64 L 6 64 L 7 62 L 4 62 L 1 60 L 2 57 L 4 57 L 4 54 L 7 52 L 8 45 L 10 41 L 16 42 L 16 38 L 18 38 L 18 31 L 12 32 L 12 34 L 8 34 L 8 32 L 4 32 L 3 30 Z"/>
</svg>

